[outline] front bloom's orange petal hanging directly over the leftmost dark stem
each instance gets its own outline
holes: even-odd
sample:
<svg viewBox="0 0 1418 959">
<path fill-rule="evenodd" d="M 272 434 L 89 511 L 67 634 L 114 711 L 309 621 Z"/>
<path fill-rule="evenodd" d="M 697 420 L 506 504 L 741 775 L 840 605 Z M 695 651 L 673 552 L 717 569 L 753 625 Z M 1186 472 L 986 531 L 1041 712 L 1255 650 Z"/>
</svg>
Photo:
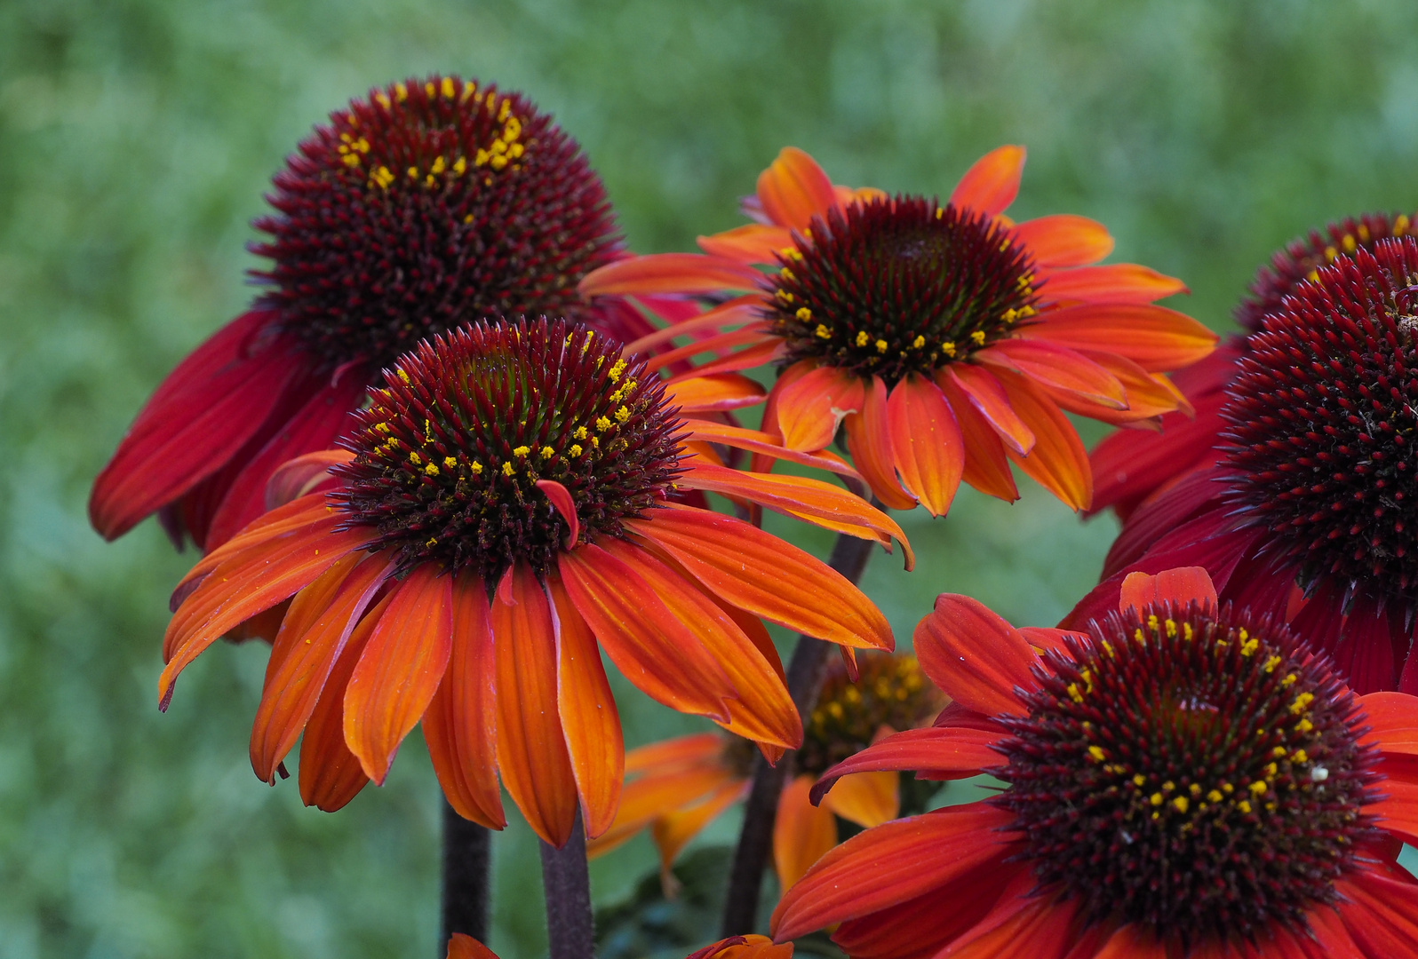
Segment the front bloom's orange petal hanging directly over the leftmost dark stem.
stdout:
<svg viewBox="0 0 1418 959">
<path fill-rule="evenodd" d="M 452 584 L 452 652 L 424 713 L 424 741 L 448 803 L 488 829 L 506 826 L 498 789 L 498 701 L 492 611 L 482 577 Z"/>
</svg>

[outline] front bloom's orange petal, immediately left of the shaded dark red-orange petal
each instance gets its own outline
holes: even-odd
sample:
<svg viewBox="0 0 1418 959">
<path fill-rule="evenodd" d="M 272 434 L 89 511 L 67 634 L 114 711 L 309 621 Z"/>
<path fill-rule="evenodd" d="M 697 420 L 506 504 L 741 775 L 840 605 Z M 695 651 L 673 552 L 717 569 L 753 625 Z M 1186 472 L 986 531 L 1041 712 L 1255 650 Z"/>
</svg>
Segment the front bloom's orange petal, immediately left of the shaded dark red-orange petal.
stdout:
<svg viewBox="0 0 1418 959">
<path fill-rule="evenodd" d="M 261 704 L 251 724 L 251 768 L 275 782 L 305 728 L 335 660 L 374 592 L 391 572 L 387 555 L 346 555 L 295 595 L 267 663 Z"/>
</svg>

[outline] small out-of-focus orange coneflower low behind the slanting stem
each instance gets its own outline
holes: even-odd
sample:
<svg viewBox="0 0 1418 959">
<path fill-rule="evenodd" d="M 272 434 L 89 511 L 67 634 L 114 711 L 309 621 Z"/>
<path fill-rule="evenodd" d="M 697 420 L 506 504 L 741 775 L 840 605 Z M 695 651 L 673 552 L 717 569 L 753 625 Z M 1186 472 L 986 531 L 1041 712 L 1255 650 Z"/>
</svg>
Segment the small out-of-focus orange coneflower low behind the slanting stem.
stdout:
<svg viewBox="0 0 1418 959">
<path fill-rule="evenodd" d="M 855 683 L 845 664 L 828 673 L 794 755 L 795 776 L 778 800 L 773 860 L 781 890 L 837 846 L 837 816 L 858 826 L 879 826 L 900 810 L 895 772 L 849 776 L 821 806 L 808 802 L 817 778 L 881 735 L 929 724 L 946 704 L 915 656 L 868 654 L 858 663 Z M 718 732 L 631 749 L 625 754 L 620 812 L 588 851 L 608 851 L 648 826 L 659 847 L 666 888 L 672 888 L 669 868 L 679 851 L 719 813 L 747 796 L 752 769 L 753 744 Z"/>
</svg>

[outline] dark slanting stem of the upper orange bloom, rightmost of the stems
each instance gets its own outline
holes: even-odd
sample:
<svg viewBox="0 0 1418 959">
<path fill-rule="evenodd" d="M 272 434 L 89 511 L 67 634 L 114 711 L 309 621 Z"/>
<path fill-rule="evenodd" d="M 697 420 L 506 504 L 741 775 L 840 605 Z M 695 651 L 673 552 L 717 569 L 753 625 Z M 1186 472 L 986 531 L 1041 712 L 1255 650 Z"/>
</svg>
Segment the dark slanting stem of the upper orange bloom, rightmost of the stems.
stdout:
<svg viewBox="0 0 1418 959">
<path fill-rule="evenodd" d="M 855 585 L 866 569 L 873 545 L 875 543 L 871 540 L 838 533 L 828 565 Z M 813 636 L 798 636 L 793 659 L 788 662 L 787 680 L 788 694 L 793 697 L 793 704 L 797 705 L 798 715 L 804 720 L 817 705 L 817 694 L 822 687 L 827 657 L 831 652 L 832 643 Z M 739 833 L 739 846 L 733 851 L 733 867 L 729 870 L 729 892 L 725 898 L 722 926 L 725 936 L 756 932 L 763 870 L 767 867 L 769 853 L 773 850 L 773 820 L 778 812 L 778 796 L 783 793 L 783 782 L 787 779 L 793 759 L 793 751 L 784 754 L 776 766 L 770 766 L 761 754 L 754 758 L 753 786 L 749 790 L 749 802 L 743 807 L 743 832 Z"/>
</svg>

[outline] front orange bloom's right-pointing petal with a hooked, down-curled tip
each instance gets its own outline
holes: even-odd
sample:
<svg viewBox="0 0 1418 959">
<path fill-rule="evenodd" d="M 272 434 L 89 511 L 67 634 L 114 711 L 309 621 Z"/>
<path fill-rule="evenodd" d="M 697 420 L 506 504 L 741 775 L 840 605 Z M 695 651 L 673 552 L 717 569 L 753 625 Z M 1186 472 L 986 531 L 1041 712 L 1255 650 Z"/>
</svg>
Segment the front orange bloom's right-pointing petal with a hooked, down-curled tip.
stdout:
<svg viewBox="0 0 1418 959">
<path fill-rule="evenodd" d="M 760 503 L 776 513 L 862 540 L 876 540 L 888 552 L 895 537 L 906 551 L 906 569 L 916 565 L 915 552 L 900 526 L 862 497 L 839 486 L 801 476 L 744 473 L 698 459 L 689 460 L 689 472 L 682 475 L 678 483 L 685 489 L 708 490 Z"/>
</svg>

